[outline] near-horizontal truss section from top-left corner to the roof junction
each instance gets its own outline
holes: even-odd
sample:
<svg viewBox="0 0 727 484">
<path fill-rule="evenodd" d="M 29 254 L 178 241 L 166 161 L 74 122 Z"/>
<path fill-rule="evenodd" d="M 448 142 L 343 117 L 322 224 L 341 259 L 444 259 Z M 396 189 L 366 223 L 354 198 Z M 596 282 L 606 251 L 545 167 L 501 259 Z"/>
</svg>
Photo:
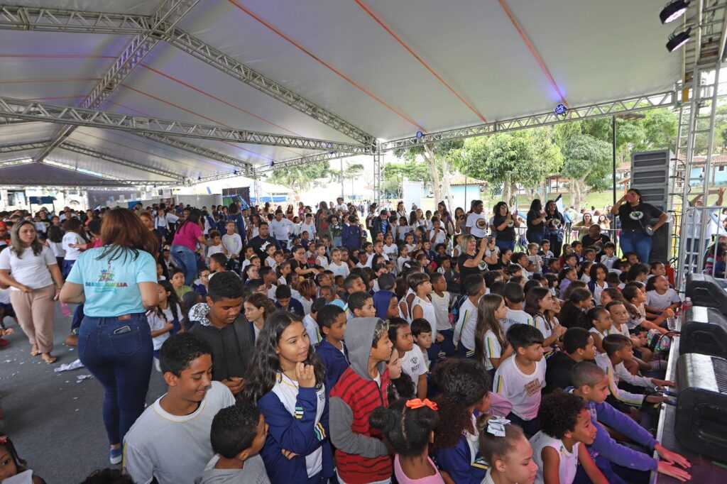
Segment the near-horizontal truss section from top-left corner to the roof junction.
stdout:
<svg viewBox="0 0 727 484">
<path fill-rule="evenodd" d="M 0 28 L 19 31 L 137 34 L 149 31 L 151 21 L 145 15 L 0 6 Z"/>
</svg>

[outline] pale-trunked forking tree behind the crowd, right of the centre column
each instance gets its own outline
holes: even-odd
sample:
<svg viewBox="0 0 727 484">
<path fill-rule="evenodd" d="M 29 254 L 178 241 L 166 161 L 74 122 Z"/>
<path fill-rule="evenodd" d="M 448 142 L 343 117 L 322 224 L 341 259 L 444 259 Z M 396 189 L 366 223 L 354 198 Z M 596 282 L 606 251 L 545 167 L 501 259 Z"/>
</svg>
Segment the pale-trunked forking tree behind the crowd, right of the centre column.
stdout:
<svg viewBox="0 0 727 484">
<path fill-rule="evenodd" d="M 449 188 L 449 164 L 450 159 L 456 156 L 455 153 L 458 153 L 463 145 L 462 140 L 426 143 L 395 150 L 394 155 L 406 161 L 416 161 L 419 156 L 424 158 L 429 175 L 424 181 L 431 182 L 436 201 L 446 201 L 447 206 L 451 206 L 453 199 Z"/>
</svg>

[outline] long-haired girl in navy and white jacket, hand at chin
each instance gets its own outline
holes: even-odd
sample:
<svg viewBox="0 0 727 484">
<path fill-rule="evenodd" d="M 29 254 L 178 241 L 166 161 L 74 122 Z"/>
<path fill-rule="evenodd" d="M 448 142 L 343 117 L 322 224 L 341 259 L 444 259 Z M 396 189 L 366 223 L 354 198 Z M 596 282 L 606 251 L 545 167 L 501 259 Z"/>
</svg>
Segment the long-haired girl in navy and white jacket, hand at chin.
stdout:
<svg viewBox="0 0 727 484">
<path fill-rule="evenodd" d="M 327 483 L 334 471 L 324 366 L 300 318 L 270 315 L 249 368 L 243 397 L 257 403 L 268 424 L 260 455 L 270 482 Z"/>
</svg>

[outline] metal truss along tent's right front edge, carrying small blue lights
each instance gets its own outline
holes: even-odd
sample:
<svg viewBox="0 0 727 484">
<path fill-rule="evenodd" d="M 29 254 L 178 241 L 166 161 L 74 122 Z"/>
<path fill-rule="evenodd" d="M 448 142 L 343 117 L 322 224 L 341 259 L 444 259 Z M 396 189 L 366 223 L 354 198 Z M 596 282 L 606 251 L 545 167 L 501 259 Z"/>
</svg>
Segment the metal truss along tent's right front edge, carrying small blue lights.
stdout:
<svg viewBox="0 0 727 484">
<path fill-rule="evenodd" d="M 422 134 L 421 137 L 413 136 L 379 142 L 379 150 L 391 151 L 399 148 L 410 148 L 411 146 L 443 142 L 451 140 L 462 140 L 464 138 L 485 136 L 499 132 L 515 131 L 518 129 L 535 128 L 537 126 L 550 126 L 566 121 L 577 121 L 579 119 L 599 118 L 601 116 L 613 116 L 614 114 L 642 111 L 654 108 L 672 106 L 676 101 L 674 91 L 657 92 L 655 94 L 644 94 L 643 96 L 629 97 L 622 100 L 598 102 L 595 104 L 579 106 L 569 109 L 565 116 L 558 116 L 553 111 L 547 113 L 522 116 L 520 118 L 504 119 L 493 121 L 489 124 L 478 124 L 459 129 L 448 129 L 446 131 Z"/>
</svg>

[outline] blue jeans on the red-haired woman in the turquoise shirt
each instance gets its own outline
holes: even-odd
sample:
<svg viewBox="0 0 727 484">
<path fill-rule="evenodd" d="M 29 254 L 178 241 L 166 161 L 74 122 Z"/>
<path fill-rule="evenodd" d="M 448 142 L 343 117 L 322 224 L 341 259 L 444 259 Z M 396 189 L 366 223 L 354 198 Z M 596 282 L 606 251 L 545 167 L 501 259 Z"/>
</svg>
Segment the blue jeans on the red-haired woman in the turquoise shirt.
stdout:
<svg viewBox="0 0 727 484">
<path fill-rule="evenodd" d="M 114 334 L 129 326 L 130 331 Z M 129 319 L 84 316 L 79 328 L 79 359 L 103 385 L 103 424 L 108 442 L 122 443 L 144 411 L 153 344 L 146 315 Z"/>
</svg>

